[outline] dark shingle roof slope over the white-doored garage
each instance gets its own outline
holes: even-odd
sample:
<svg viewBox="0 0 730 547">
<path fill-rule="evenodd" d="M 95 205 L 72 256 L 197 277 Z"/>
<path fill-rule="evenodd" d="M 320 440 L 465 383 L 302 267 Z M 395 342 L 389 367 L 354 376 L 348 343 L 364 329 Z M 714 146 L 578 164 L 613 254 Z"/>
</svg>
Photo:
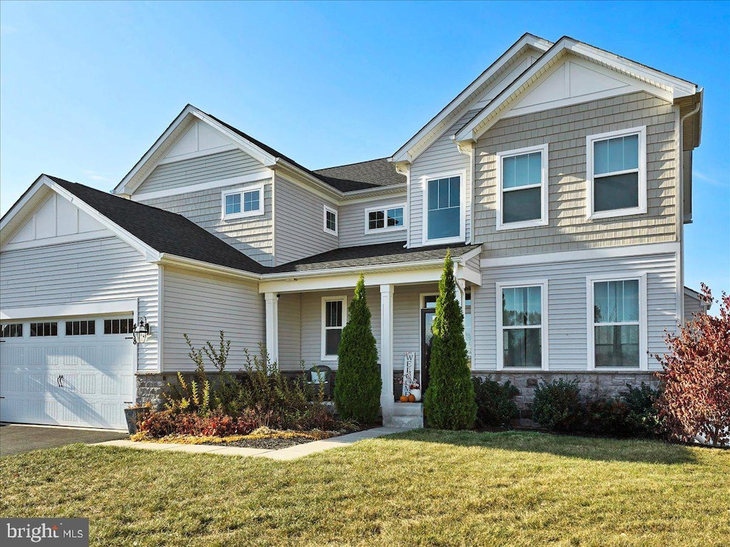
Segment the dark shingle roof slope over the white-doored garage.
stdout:
<svg viewBox="0 0 730 547">
<path fill-rule="evenodd" d="M 180 214 L 120 198 L 55 176 L 48 178 L 158 252 L 254 274 L 269 270 Z"/>
</svg>

